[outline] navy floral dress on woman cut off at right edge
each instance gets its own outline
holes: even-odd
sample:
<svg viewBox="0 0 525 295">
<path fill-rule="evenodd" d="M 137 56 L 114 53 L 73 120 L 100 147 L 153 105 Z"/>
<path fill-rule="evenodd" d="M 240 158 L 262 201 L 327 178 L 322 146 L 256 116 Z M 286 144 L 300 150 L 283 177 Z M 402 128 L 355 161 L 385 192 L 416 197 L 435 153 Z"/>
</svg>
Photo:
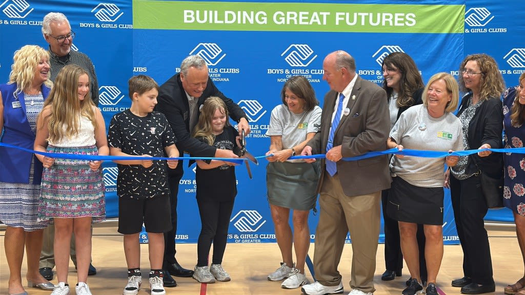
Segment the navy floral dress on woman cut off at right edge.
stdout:
<svg viewBox="0 0 525 295">
<path fill-rule="evenodd" d="M 525 125 L 513 127 L 510 124 L 512 104 L 517 94 L 517 87 L 511 87 L 503 94 L 503 126 L 505 148 L 523 148 Z M 525 154 L 505 153 L 505 185 L 503 186 L 503 204 L 513 212 L 525 216 Z"/>
</svg>

